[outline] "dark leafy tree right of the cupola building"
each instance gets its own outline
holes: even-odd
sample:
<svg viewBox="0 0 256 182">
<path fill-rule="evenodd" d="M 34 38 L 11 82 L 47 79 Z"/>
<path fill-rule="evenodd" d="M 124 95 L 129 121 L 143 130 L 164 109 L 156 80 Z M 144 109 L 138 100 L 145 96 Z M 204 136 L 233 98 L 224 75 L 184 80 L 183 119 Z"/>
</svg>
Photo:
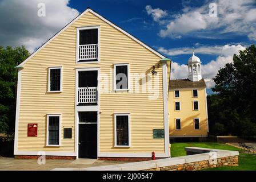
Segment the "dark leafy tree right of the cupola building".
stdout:
<svg viewBox="0 0 256 182">
<path fill-rule="evenodd" d="M 210 132 L 218 135 L 256 135 L 256 47 L 234 55 L 219 69 L 214 92 L 208 96 Z"/>
</svg>

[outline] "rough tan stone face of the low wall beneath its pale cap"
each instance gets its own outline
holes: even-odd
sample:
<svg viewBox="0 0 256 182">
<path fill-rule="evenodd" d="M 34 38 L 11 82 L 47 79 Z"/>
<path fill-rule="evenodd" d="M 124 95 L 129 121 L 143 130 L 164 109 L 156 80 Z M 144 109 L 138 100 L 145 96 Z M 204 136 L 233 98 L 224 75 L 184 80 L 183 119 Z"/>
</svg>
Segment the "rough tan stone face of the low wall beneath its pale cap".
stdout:
<svg viewBox="0 0 256 182">
<path fill-rule="evenodd" d="M 166 166 L 154 169 L 148 169 L 147 171 L 195 171 L 206 168 L 215 168 L 222 166 L 238 166 L 238 156 L 230 156 L 226 158 L 218 158 L 216 163 L 210 163 L 209 160 L 203 160 L 200 162 L 179 164 L 175 166 Z"/>
</svg>

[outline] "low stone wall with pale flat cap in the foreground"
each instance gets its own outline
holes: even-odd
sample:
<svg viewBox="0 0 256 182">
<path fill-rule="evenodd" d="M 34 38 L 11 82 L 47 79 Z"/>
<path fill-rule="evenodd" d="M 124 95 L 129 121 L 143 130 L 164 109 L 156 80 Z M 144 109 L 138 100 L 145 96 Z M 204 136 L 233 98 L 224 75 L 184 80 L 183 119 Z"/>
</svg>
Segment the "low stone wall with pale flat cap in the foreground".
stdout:
<svg viewBox="0 0 256 182">
<path fill-rule="evenodd" d="M 175 158 L 149 160 L 126 164 L 89 168 L 55 168 L 54 171 L 193 171 L 221 166 L 238 166 L 238 151 L 216 150 L 211 148 L 187 147 L 187 154 Z"/>
</svg>

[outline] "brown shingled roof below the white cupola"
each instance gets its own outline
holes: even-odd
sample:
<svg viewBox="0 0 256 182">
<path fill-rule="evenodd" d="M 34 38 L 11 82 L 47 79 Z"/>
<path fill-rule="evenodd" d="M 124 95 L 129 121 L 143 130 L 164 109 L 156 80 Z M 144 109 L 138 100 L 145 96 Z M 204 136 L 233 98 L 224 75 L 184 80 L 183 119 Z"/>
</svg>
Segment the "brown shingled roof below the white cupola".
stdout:
<svg viewBox="0 0 256 182">
<path fill-rule="evenodd" d="M 189 79 L 170 80 L 169 90 L 185 88 L 206 88 L 205 80 L 203 78 L 199 81 L 191 81 Z"/>
</svg>

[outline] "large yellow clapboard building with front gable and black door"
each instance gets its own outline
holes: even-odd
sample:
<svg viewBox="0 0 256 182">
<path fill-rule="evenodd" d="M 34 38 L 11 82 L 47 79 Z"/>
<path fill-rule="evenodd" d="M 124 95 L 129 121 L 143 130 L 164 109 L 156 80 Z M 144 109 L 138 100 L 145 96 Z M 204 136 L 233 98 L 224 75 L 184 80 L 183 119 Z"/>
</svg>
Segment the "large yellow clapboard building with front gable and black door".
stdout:
<svg viewBox="0 0 256 182">
<path fill-rule="evenodd" d="M 17 69 L 16 158 L 170 156 L 170 60 L 90 8 Z"/>
</svg>

